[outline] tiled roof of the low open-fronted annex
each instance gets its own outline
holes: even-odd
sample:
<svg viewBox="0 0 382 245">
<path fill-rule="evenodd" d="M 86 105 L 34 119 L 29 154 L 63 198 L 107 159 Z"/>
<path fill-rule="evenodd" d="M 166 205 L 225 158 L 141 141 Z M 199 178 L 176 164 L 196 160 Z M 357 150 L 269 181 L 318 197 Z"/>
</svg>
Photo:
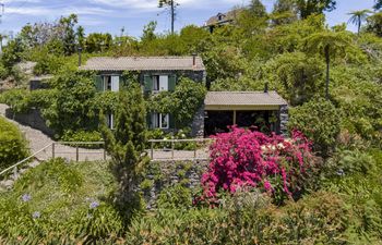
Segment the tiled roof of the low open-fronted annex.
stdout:
<svg viewBox="0 0 382 245">
<path fill-rule="evenodd" d="M 288 102 L 276 91 L 208 91 L 205 106 L 284 106 Z"/>
</svg>

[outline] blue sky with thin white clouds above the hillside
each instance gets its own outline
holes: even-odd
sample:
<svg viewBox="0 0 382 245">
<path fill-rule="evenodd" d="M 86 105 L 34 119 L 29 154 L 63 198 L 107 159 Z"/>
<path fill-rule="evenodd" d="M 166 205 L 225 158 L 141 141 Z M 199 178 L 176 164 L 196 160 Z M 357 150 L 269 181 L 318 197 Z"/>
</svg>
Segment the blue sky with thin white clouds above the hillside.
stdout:
<svg viewBox="0 0 382 245">
<path fill-rule="evenodd" d="M 111 33 L 140 37 L 145 24 L 157 21 L 157 32 L 168 32 L 170 16 L 157 8 L 158 0 L 0 0 L 4 4 L 1 14 L 0 34 L 16 34 L 27 23 L 51 22 L 62 15 L 75 13 L 79 24 L 86 33 Z M 178 0 L 176 29 L 195 24 L 203 25 L 211 16 L 227 12 L 234 7 L 246 5 L 249 0 Z M 274 0 L 262 1 L 268 11 Z M 355 10 L 371 9 L 373 0 L 337 0 L 337 9 L 326 13 L 327 23 L 333 26 L 346 23 Z M 356 30 L 356 26 L 348 25 Z"/>
</svg>

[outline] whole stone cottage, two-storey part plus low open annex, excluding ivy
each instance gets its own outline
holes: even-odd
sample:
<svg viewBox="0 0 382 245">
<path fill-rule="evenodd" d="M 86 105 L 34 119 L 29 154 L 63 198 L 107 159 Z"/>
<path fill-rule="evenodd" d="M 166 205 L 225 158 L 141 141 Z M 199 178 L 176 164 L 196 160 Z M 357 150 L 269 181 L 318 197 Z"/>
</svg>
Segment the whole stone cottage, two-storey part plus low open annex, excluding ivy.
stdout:
<svg viewBox="0 0 382 245">
<path fill-rule="evenodd" d="M 126 71 L 138 72 L 144 93 L 171 91 L 179 77 L 205 84 L 206 71 L 200 57 L 121 57 L 93 58 L 80 70 L 96 71 L 95 85 L 99 91 L 118 91 Z M 112 128 L 114 115 L 108 115 Z M 288 103 L 276 93 L 210 91 L 192 123 L 193 136 L 203 137 L 228 131 L 228 126 L 256 126 L 262 131 L 286 133 Z M 150 128 L 175 131 L 171 114 L 152 113 Z"/>
</svg>

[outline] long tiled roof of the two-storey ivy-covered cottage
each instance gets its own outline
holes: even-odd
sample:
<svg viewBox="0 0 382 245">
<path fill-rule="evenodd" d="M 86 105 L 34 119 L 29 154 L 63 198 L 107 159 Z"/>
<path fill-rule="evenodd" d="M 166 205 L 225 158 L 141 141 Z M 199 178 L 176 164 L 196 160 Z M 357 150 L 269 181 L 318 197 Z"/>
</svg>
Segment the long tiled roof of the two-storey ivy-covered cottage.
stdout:
<svg viewBox="0 0 382 245">
<path fill-rule="evenodd" d="M 80 70 L 87 71 L 204 71 L 200 57 L 97 57 Z"/>
</svg>

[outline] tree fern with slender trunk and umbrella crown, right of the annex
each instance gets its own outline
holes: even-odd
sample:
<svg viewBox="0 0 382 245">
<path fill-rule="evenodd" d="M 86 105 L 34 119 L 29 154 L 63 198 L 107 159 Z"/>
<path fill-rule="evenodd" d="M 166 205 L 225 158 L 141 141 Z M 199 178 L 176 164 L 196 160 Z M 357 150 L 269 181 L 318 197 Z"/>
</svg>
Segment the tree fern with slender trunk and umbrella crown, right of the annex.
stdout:
<svg viewBox="0 0 382 245">
<path fill-rule="evenodd" d="M 325 96 L 329 99 L 330 64 L 331 57 L 344 56 L 350 47 L 351 38 L 346 32 L 324 30 L 315 33 L 306 39 L 307 50 L 313 53 L 323 54 L 326 62 Z"/>
</svg>

